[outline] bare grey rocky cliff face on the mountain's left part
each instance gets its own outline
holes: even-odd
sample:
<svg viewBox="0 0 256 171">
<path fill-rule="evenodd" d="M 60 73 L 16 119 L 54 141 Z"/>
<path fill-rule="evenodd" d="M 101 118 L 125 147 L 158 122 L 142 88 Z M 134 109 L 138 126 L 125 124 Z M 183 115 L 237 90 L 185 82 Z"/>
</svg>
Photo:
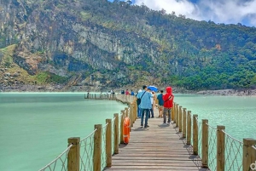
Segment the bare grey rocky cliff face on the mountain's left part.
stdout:
<svg viewBox="0 0 256 171">
<path fill-rule="evenodd" d="M 49 71 L 76 76 L 74 84 L 81 86 L 136 82 L 139 74 L 131 75 L 129 66 L 143 66 L 148 76 L 157 72 L 159 44 L 136 32 L 113 31 L 84 20 L 83 2 L 0 0 L 0 48 L 16 44 L 13 61 L 30 75 Z"/>
</svg>

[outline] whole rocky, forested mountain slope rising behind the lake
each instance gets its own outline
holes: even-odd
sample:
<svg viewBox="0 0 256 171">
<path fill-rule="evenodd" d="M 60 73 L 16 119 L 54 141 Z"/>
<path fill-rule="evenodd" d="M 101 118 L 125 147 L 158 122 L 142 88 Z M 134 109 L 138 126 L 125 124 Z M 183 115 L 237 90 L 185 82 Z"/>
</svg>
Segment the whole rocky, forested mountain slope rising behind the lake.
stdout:
<svg viewBox="0 0 256 171">
<path fill-rule="evenodd" d="M 102 0 L 1 0 L 0 6 L 0 47 L 16 44 L 13 61 L 40 85 L 75 79 L 72 85 L 97 88 L 256 86 L 253 27 Z"/>
</svg>

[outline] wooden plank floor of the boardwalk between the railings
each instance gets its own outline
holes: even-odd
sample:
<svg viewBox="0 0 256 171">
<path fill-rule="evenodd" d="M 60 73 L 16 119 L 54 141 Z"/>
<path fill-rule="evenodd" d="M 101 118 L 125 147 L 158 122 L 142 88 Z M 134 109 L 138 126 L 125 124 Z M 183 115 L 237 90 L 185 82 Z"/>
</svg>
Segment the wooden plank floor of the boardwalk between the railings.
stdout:
<svg viewBox="0 0 256 171">
<path fill-rule="evenodd" d="M 154 110 L 154 116 L 158 116 Z M 191 145 L 185 145 L 175 123 L 163 124 L 163 118 L 148 119 L 148 128 L 140 127 L 137 119 L 131 128 L 128 145 L 119 145 L 119 154 L 113 155 L 112 167 L 107 171 L 166 171 L 207 170 L 201 168 L 198 157 L 190 155 Z"/>
</svg>

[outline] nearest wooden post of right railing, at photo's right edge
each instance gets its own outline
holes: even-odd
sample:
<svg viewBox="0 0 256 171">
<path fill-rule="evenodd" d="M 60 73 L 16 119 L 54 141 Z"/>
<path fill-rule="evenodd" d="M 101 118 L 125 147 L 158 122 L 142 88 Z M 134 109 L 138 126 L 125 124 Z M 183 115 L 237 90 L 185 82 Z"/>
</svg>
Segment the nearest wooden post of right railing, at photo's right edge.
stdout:
<svg viewBox="0 0 256 171">
<path fill-rule="evenodd" d="M 256 145 L 256 140 L 243 139 L 242 171 L 256 169 L 255 150 L 253 149 L 252 145 Z M 251 169 L 251 168 L 253 168 L 253 169 Z"/>
</svg>

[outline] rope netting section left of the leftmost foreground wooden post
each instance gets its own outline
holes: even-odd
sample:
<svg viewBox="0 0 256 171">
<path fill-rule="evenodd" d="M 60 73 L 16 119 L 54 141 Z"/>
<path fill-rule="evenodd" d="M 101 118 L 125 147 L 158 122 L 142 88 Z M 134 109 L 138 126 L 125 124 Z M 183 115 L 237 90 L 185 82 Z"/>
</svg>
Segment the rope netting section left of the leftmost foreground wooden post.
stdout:
<svg viewBox="0 0 256 171">
<path fill-rule="evenodd" d="M 49 162 L 49 164 L 44 166 L 44 168 L 39 169 L 39 171 L 46 171 L 46 170 L 66 171 L 67 170 L 67 154 L 72 146 L 73 145 L 69 145 L 65 151 L 61 152 L 61 154 L 55 158 L 55 160 L 53 160 L 52 162 Z"/>
</svg>

